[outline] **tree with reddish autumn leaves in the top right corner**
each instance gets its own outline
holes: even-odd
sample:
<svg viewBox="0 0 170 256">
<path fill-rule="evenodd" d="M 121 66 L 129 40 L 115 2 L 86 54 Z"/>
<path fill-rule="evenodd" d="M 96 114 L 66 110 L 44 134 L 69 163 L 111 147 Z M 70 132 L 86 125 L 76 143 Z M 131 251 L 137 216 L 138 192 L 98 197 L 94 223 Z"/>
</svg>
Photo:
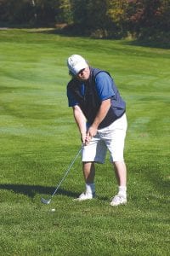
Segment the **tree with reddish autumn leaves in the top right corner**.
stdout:
<svg viewBox="0 0 170 256">
<path fill-rule="evenodd" d="M 139 39 L 165 40 L 170 29 L 169 0 L 133 0 L 129 3 L 129 30 Z"/>
</svg>

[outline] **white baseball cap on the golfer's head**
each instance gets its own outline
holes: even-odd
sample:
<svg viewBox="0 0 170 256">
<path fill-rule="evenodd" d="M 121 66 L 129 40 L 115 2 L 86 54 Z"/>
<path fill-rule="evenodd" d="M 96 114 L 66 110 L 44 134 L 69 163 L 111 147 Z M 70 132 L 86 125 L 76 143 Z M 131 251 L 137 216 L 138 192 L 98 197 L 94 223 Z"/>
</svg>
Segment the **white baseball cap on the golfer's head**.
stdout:
<svg viewBox="0 0 170 256">
<path fill-rule="evenodd" d="M 77 75 L 83 68 L 88 67 L 88 63 L 81 55 L 71 55 L 67 60 L 67 66 L 71 73 Z"/>
</svg>

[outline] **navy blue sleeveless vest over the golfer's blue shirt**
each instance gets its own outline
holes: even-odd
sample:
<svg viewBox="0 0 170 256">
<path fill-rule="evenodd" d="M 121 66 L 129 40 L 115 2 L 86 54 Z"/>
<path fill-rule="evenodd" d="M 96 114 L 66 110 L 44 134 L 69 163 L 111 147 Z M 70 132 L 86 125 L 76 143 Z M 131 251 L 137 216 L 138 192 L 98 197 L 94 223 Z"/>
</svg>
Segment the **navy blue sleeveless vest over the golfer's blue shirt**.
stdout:
<svg viewBox="0 0 170 256">
<path fill-rule="evenodd" d="M 79 107 L 82 109 L 86 119 L 88 120 L 88 124 L 92 125 L 96 114 L 99 111 L 99 107 L 101 105 L 101 100 L 99 99 L 97 90 L 95 88 L 95 78 L 100 72 L 105 72 L 98 68 L 90 67 L 90 77 L 85 84 L 85 92 L 84 96 L 81 94 L 81 84 L 79 80 L 76 78 L 71 79 L 69 82 L 68 90 L 71 90 L 72 95 L 77 100 Z M 107 72 L 105 72 L 107 73 Z M 110 73 L 107 73 L 110 77 Z M 115 92 L 115 96 L 111 97 L 111 108 L 105 116 L 105 119 L 99 124 L 99 129 L 104 128 L 108 125 L 111 125 L 116 119 L 120 118 L 126 110 L 126 104 L 122 100 L 116 85 L 112 82 L 112 88 Z"/>
</svg>

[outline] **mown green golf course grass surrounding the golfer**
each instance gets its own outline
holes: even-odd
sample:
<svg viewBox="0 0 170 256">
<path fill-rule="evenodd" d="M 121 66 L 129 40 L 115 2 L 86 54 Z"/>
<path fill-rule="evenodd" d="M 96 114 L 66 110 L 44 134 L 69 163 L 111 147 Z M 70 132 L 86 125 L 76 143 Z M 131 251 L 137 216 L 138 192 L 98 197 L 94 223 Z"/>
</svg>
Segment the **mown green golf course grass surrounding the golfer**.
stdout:
<svg viewBox="0 0 170 256">
<path fill-rule="evenodd" d="M 128 43 L 0 31 L 0 255 L 168 255 L 170 51 Z M 109 155 L 94 201 L 72 201 L 84 189 L 80 157 L 51 204 L 40 201 L 80 147 L 65 96 L 74 53 L 108 70 L 127 102 L 126 207 L 109 205 Z"/>
</svg>

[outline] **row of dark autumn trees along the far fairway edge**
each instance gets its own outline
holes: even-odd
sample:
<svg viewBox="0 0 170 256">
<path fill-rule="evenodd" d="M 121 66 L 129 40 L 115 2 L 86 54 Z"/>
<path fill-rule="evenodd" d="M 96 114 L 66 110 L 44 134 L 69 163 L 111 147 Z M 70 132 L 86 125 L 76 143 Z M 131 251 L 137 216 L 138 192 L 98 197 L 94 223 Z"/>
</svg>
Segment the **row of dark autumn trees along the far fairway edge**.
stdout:
<svg viewBox="0 0 170 256">
<path fill-rule="evenodd" d="M 94 38 L 169 41 L 170 0 L 0 0 L 0 24 L 57 26 Z"/>
</svg>

